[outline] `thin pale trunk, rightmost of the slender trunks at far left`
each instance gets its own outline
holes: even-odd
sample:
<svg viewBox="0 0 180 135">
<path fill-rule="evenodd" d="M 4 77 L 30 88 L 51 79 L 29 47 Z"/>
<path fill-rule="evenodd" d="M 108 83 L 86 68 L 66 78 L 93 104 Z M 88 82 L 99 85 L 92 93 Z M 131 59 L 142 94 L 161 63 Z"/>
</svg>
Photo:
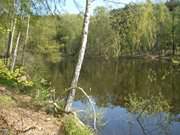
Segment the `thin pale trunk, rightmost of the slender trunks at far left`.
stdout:
<svg viewBox="0 0 180 135">
<path fill-rule="evenodd" d="M 28 42 L 28 38 L 29 38 L 29 22 L 30 22 L 30 15 L 28 16 L 28 20 L 27 20 L 27 29 L 26 29 L 26 37 L 25 37 L 25 41 L 24 41 L 24 45 L 23 45 L 23 50 L 22 50 L 22 58 L 21 58 L 21 64 L 24 65 L 24 55 L 25 55 L 25 48 Z"/>
</svg>

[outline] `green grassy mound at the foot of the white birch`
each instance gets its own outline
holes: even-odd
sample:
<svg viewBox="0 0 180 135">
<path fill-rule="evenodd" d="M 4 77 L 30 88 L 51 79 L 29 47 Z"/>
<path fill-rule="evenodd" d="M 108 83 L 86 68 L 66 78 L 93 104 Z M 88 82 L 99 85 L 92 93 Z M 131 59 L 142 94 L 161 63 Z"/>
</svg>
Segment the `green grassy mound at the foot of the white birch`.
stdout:
<svg viewBox="0 0 180 135">
<path fill-rule="evenodd" d="M 63 121 L 65 135 L 93 135 L 93 131 L 74 116 L 66 116 Z"/>
</svg>

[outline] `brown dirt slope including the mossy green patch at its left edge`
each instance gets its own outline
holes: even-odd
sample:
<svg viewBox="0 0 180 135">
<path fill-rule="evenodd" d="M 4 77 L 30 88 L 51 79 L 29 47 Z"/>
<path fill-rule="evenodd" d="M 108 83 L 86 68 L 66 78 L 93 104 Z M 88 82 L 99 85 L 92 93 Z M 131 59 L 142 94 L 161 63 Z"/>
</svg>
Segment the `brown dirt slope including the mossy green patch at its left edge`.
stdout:
<svg viewBox="0 0 180 135">
<path fill-rule="evenodd" d="M 19 104 L 25 106 L 25 102 L 30 102 L 31 98 L 7 95 L 4 91 L 0 91 L 0 135 L 64 135 L 60 119 L 43 111 L 19 107 Z"/>
</svg>

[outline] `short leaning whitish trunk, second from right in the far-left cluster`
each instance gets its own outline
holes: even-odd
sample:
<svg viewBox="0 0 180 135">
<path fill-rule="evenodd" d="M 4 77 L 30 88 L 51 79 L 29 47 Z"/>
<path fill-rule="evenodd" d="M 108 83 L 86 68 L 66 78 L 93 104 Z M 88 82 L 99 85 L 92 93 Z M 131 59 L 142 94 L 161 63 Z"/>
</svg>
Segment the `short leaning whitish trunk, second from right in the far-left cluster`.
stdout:
<svg viewBox="0 0 180 135">
<path fill-rule="evenodd" d="M 19 48 L 20 37 L 21 37 L 21 32 L 19 32 L 18 36 L 17 36 L 16 46 L 15 46 L 15 49 L 14 49 L 13 61 L 12 61 L 12 65 L 11 65 L 11 71 L 14 71 L 14 67 L 16 65 L 16 59 L 17 59 L 17 53 L 18 53 L 18 48 Z"/>
</svg>

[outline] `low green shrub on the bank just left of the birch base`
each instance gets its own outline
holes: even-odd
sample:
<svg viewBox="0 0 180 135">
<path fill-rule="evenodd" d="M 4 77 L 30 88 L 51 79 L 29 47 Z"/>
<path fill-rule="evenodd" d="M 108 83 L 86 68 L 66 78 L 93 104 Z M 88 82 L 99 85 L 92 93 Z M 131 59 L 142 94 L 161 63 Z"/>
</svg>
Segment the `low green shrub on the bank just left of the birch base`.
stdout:
<svg viewBox="0 0 180 135">
<path fill-rule="evenodd" d="M 56 98 L 56 89 L 45 79 L 34 81 L 33 104 L 48 114 L 59 116 L 64 108 L 64 100 Z"/>
</svg>

